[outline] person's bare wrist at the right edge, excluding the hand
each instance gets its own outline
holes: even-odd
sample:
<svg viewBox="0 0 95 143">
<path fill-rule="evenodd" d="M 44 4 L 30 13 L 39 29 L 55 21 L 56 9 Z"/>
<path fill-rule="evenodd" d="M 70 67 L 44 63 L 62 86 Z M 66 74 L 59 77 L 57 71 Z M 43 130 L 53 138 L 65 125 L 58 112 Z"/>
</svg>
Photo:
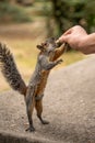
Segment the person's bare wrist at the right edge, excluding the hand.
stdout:
<svg viewBox="0 0 95 143">
<path fill-rule="evenodd" d="M 79 42 L 79 48 L 84 54 L 94 54 L 95 53 L 95 33 L 84 36 Z"/>
</svg>

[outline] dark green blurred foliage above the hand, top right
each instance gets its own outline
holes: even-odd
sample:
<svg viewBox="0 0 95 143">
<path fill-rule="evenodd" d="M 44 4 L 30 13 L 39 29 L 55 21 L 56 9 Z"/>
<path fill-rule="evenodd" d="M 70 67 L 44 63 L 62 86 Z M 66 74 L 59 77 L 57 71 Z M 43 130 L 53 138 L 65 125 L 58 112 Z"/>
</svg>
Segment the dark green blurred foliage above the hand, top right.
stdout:
<svg viewBox="0 0 95 143">
<path fill-rule="evenodd" d="M 49 2 L 52 7 L 47 7 L 45 13 L 47 12 L 50 20 L 55 19 L 57 35 L 76 24 L 85 28 L 87 32 L 95 31 L 95 0 L 49 0 Z"/>
</svg>

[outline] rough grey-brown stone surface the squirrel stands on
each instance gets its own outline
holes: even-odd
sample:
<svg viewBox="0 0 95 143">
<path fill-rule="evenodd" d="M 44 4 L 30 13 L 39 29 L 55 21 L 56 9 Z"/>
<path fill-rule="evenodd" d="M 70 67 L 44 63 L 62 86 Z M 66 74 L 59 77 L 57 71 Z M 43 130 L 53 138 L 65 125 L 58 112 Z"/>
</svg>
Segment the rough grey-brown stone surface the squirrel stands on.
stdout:
<svg viewBox="0 0 95 143">
<path fill-rule="evenodd" d="M 95 143 L 94 56 L 50 74 L 43 116 L 49 124 L 41 125 L 34 111 L 36 132 L 27 133 L 23 96 L 12 90 L 0 95 L 0 132 L 40 143 Z"/>
</svg>

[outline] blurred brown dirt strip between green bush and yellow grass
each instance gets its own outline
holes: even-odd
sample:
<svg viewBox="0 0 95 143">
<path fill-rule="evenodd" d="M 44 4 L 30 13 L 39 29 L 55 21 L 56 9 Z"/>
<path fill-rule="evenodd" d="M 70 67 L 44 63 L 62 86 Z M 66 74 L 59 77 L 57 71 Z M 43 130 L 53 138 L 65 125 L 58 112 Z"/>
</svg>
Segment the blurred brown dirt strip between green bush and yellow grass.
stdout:
<svg viewBox="0 0 95 143">
<path fill-rule="evenodd" d="M 43 24 L 41 24 L 43 22 Z M 46 22 L 43 20 L 34 21 L 32 23 L 21 24 L 2 24 L 0 25 L 0 37 L 4 38 L 45 38 L 47 31 L 45 31 Z"/>
</svg>

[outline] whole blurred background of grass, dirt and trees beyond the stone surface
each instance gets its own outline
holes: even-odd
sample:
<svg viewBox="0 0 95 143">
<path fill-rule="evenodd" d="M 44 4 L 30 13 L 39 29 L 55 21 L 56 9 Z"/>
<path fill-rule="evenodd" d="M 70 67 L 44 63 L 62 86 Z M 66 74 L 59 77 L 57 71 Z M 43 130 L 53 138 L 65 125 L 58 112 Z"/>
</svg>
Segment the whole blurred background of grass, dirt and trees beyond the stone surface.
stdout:
<svg viewBox="0 0 95 143">
<path fill-rule="evenodd" d="M 95 32 L 95 0 L 0 0 L 0 42 L 9 45 L 26 82 L 35 68 L 36 45 L 75 24 Z M 69 48 L 62 57 L 57 68 L 87 56 Z M 0 91 L 9 89 L 1 73 L 0 80 Z"/>
</svg>

